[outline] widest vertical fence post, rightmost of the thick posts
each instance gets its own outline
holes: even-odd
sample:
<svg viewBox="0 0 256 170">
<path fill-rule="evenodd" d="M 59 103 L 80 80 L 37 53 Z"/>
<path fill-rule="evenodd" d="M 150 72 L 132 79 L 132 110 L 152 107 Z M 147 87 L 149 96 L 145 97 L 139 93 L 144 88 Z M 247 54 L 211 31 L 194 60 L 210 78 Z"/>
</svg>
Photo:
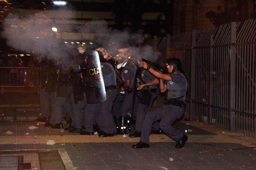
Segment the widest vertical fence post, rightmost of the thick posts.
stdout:
<svg viewBox="0 0 256 170">
<path fill-rule="evenodd" d="M 230 132 L 235 132 L 235 43 L 236 22 L 230 23 L 230 51 L 229 51 L 229 111 Z"/>
</svg>

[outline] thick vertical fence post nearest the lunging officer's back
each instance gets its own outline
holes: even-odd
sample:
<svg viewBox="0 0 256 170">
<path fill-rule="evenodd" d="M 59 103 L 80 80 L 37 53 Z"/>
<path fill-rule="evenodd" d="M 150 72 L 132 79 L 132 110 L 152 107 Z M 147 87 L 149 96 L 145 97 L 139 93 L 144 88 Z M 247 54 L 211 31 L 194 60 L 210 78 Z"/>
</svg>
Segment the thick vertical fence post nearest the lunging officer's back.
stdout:
<svg viewBox="0 0 256 170">
<path fill-rule="evenodd" d="M 190 79 L 190 118 L 193 119 L 195 115 L 195 68 L 196 68 L 196 29 L 192 29 L 192 50 L 191 50 L 191 79 Z"/>
</svg>

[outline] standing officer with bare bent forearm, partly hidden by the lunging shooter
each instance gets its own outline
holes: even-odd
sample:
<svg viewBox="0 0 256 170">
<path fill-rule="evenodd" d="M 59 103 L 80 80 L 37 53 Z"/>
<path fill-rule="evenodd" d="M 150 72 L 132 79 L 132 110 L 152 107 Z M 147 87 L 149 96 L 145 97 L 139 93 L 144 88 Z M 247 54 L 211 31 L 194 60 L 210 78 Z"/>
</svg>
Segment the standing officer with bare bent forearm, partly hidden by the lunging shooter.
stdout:
<svg viewBox="0 0 256 170">
<path fill-rule="evenodd" d="M 142 62 L 138 62 L 138 65 L 139 67 L 142 67 Z M 150 110 L 153 100 L 156 98 L 156 85 L 159 83 L 159 80 L 155 78 L 155 76 L 153 76 L 147 69 L 138 69 L 139 74 L 137 79 L 139 86 L 137 87 L 138 92 L 136 96 L 138 96 L 140 99 L 136 111 L 135 132 L 129 135 L 131 138 L 141 137 L 144 118 L 146 112 Z"/>
</svg>

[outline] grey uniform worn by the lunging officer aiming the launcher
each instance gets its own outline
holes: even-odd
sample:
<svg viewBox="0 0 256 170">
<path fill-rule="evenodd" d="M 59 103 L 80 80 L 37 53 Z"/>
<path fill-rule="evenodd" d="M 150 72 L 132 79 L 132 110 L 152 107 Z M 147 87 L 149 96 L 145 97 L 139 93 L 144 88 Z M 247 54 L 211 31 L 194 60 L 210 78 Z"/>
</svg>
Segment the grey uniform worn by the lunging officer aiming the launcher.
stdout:
<svg viewBox="0 0 256 170">
<path fill-rule="evenodd" d="M 166 81 L 167 93 L 165 105 L 147 112 L 143 123 L 140 142 L 149 144 L 149 135 L 152 124 L 157 120 L 161 120 L 161 130 L 173 140 L 179 141 L 184 136 L 184 134 L 174 128 L 172 124 L 176 119 L 183 116 L 188 83 L 185 76 L 180 71 L 177 71 L 176 73 L 169 73 L 169 75 L 172 81 Z M 177 98 L 180 99 L 175 100 Z"/>
</svg>

